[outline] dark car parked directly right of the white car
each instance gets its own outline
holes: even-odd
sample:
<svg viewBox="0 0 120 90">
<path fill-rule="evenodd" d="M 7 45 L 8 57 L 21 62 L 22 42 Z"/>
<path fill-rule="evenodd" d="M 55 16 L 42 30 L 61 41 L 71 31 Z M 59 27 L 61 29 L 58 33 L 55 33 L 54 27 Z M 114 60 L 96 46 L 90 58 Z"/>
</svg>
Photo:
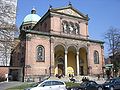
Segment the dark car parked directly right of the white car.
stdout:
<svg viewBox="0 0 120 90">
<path fill-rule="evenodd" d="M 85 81 L 80 86 L 68 87 L 67 90 L 103 90 L 103 87 L 95 81 Z"/>
</svg>

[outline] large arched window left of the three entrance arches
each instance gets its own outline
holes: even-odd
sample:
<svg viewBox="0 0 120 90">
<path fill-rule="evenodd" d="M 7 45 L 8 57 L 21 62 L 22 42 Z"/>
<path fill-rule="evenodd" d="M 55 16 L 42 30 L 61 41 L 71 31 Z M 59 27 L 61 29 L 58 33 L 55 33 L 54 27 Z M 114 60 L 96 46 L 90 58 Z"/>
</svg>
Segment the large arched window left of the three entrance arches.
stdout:
<svg viewBox="0 0 120 90">
<path fill-rule="evenodd" d="M 37 46 L 37 61 L 44 61 L 45 49 L 42 45 Z"/>
</svg>

